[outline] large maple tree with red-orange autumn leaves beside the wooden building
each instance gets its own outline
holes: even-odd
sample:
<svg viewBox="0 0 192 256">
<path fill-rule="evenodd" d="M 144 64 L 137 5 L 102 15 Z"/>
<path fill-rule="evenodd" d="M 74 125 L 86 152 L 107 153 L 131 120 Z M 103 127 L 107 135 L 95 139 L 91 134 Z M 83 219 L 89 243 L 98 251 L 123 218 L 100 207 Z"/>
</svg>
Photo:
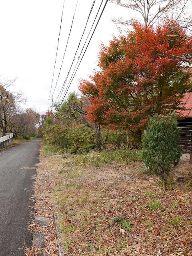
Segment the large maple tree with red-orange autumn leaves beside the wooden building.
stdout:
<svg viewBox="0 0 192 256">
<path fill-rule="evenodd" d="M 191 52 L 192 41 L 169 37 L 166 28 L 134 30 L 102 45 L 100 72 L 81 80 L 79 89 L 88 96 L 88 119 L 94 123 L 124 127 L 141 140 L 142 131 L 154 114 L 181 109 L 184 94 L 191 90 L 191 69 L 187 62 L 173 59 Z M 179 31 L 185 35 L 185 31 Z"/>
</svg>

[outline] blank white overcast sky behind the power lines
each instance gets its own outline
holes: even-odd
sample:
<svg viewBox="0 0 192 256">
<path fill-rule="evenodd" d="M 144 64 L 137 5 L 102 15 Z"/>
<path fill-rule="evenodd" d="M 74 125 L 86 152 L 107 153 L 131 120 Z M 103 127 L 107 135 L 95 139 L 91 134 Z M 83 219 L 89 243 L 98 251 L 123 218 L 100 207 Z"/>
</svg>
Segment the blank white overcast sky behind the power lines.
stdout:
<svg viewBox="0 0 192 256">
<path fill-rule="evenodd" d="M 88 28 L 78 50 L 79 54 L 101 1 L 96 0 Z M 76 2 L 77 0 L 65 0 L 64 3 L 58 58 L 52 89 L 54 89 L 58 78 Z M 78 0 L 68 48 L 53 99 L 57 98 L 62 88 L 84 30 L 92 2 L 92 0 Z M 63 0 L 0 0 L 0 75 L 2 75 L 0 80 L 18 77 L 12 90 L 21 89 L 27 97 L 26 107 L 35 106 L 36 110 L 41 113 L 48 110 L 62 7 Z M 119 34 L 116 25 L 111 22 L 111 18 L 123 17 L 129 19 L 134 18 L 133 14 L 135 14 L 133 11 L 121 8 L 108 1 L 68 92 L 77 91 L 79 78 L 87 78 L 88 74 L 92 74 L 93 68 L 96 68 L 100 42 L 108 44 L 109 40 L 112 39 L 112 34 Z M 49 103 L 51 102 L 49 101 Z"/>
</svg>

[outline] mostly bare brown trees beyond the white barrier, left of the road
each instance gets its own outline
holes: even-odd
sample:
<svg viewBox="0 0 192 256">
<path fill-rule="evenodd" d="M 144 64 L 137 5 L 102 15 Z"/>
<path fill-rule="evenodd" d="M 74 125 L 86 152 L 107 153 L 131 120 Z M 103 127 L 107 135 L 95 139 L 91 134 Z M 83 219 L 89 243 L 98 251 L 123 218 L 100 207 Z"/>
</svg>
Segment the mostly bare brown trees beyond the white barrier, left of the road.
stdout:
<svg viewBox="0 0 192 256">
<path fill-rule="evenodd" d="M 38 114 L 32 109 L 23 109 L 26 102 L 24 93 L 12 92 L 15 79 L 0 82 L 0 132 L 2 136 L 13 133 L 14 138 L 29 139 L 39 134 L 37 126 Z"/>
</svg>

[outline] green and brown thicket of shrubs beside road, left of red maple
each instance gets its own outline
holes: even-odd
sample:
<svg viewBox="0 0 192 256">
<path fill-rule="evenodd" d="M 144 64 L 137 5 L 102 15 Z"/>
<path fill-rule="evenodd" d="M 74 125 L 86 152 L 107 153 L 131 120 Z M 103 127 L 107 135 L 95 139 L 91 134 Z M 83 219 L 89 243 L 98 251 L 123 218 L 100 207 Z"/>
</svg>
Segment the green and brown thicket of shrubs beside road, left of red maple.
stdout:
<svg viewBox="0 0 192 256">
<path fill-rule="evenodd" d="M 90 122 L 87 119 L 89 105 L 87 97 L 70 93 L 61 106 L 56 105 L 55 114 L 46 116 L 41 129 L 44 140 L 69 153 L 139 146 L 137 138 L 122 128 L 111 130 Z"/>
</svg>

